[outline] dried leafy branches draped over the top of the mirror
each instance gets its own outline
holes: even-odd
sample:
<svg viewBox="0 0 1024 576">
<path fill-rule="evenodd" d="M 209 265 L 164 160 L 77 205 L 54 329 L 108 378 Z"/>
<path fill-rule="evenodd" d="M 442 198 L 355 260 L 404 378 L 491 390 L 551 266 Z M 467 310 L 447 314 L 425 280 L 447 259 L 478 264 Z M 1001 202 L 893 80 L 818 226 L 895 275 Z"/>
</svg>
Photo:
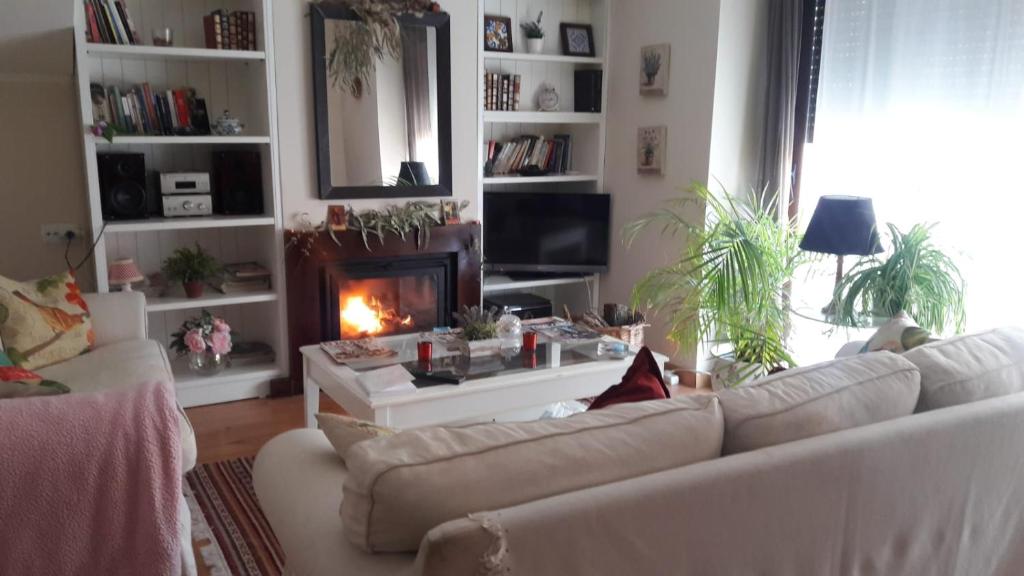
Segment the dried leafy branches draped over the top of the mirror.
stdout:
<svg viewBox="0 0 1024 576">
<path fill-rule="evenodd" d="M 335 28 L 327 61 L 332 85 L 340 85 L 356 98 L 370 89 L 377 60 L 400 57 L 398 16 L 441 11 L 440 4 L 429 0 L 322 0 L 316 6 L 348 8 L 361 20 Z"/>
</svg>

